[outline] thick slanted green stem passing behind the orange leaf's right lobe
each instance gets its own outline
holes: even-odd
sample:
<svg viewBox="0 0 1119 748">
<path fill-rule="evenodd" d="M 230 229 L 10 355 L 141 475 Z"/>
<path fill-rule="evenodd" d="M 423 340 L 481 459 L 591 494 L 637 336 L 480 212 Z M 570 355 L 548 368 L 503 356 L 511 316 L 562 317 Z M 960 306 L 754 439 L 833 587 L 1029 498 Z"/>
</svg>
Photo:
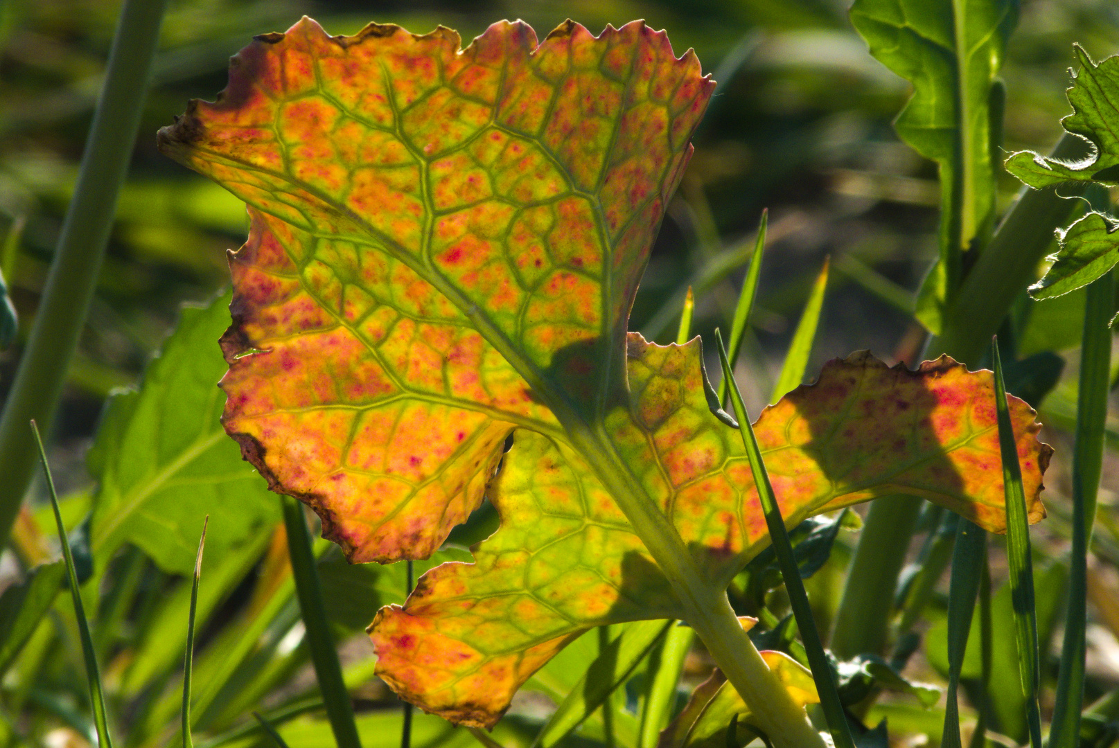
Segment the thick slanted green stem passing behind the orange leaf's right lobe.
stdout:
<svg viewBox="0 0 1119 748">
<path fill-rule="evenodd" d="M 1052 158 L 1071 158 L 1082 150 L 1083 141 L 1065 134 L 1053 149 Z M 1075 189 L 1062 188 L 1062 192 L 1071 195 Z M 961 283 L 946 314 L 943 333 L 932 340 L 927 358 L 948 353 L 958 361 L 976 366 L 1015 297 L 1034 282 L 1037 264 L 1053 242 L 1053 229 L 1068 221 L 1079 202 L 1059 197 L 1052 188 L 1023 190 Z M 880 632 L 886 631 L 891 609 L 880 605 L 864 612 L 856 606 L 873 600 L 876 595 L 884 600 L 892 599 L 902 569 L 902 557 L 909 548 L 921 506 L 921 500 L 906 498 L 896 502 L 874 501 L 867 511 L 859 549 L 866 546 L 868 550 L 865 553 L 856 551 L 856 559 L 862 555 L 864 567 L 881 567 L 881 572 L 849 574 L 836 614 L 837 624 L 856 621 L 859 628 L 865 627 L 869 632 L 866 642 L 876 642 Z M 892 571 L 893 576 L 886 571 Z M 883 590 L 890 593 L 883 594 Z M 846 628 L 847 624 L 844 625 Z M 850 638 L 850 642 L 837 643 L 844 647 L 863 643 L 854 641 L 862 636 L 853 635 Z M 852 653 L 858 654 L 857 651 Z"/>
</svg>

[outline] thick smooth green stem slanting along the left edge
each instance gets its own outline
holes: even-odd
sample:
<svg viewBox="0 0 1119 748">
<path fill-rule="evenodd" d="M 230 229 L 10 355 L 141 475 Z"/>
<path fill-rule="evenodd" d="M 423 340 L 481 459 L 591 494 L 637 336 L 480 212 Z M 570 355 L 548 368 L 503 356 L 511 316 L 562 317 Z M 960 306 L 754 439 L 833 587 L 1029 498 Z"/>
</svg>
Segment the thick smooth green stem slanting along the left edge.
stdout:
<svg viewBox="0 0 1119 748">
<path fill-rule="evenodd" d="M 121 11 L 77 187 L 0 420 L 0 547 L 8 542 L 35 471 L 35 445 L 27 437 L 27 424 L 35 419 L 44 432 L 49 430 L 85 324 L 140 125 L 166 4 L 166 0 L 125 0 Z"/>
</svg>

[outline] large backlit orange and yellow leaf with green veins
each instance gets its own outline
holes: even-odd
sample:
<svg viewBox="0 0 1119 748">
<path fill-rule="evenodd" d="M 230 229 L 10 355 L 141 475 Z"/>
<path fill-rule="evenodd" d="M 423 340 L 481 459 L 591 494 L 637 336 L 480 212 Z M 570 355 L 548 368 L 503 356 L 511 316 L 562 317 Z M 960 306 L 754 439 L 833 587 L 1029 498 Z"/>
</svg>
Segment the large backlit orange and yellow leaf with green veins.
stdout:
<svg viewBox="0 0 1119 748">
<path fill-rule="evenodd" d="M 304 19 L 160 133 L 250 205 L 224 423 L 270 486 L 352 561 L 426 557 L 483 494 L 498 509 L 473 564 L 370 626 L 378 673 L 429 711 L 490 726 L 608 623 L 683 618 L 736 656 L 697 610 L 769 542 L 741 437 L 698 339 L 627 337 L 712 88 L 642 22 L 539 44 L 500 22 L 460 50 Z M 758 422 L 787 522 L 905 492 L 1002 530 L 993 401 L 950 359 L 828 364 Z M 1012 413 L 1036 520 L 1050 449 Z"/>
</svg>

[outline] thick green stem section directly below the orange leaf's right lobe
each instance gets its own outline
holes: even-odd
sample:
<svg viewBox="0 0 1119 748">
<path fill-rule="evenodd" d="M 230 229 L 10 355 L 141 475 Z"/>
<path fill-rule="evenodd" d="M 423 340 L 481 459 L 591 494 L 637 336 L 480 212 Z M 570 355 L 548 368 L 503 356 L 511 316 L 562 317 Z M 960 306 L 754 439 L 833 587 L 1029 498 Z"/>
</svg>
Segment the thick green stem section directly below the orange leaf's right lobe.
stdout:
<svg viewBox="0 0 1119 748">
<path fill-rule="evenodd" d="M 897 584 L 921 500 L 882 496 L 874 506 L 878 511 L 866 517 L 831 633 L 831 651 L 840 660 L 885 652 L 894 596 L 883 591 Z"/>
</svg>

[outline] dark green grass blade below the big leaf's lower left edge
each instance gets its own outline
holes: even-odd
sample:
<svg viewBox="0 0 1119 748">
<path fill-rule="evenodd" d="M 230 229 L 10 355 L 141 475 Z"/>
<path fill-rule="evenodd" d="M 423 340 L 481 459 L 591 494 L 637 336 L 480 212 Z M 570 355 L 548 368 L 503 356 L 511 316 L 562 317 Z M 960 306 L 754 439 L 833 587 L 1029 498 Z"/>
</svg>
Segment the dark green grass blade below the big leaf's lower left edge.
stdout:
<svg viewBox="0 0 1119 748">
<path fill-rule="evenodd" d="M 291 555 L 291 569 L 295 577 L 295 596 L 307 626 L 307 645 L 322 691 L 322 701 L 327 707 L 330 729 L 338 748 L 361 748 L 357 726 L 354 723 L 354 704 L 342 681 L 335 637 L 330 633 L 330 623 L 322 604 L 322 587 L 303 505 L 292 496 L 282 495 L 281 500 L 284 527 L 288 529 L 288 552 Z"/>
</svg>

